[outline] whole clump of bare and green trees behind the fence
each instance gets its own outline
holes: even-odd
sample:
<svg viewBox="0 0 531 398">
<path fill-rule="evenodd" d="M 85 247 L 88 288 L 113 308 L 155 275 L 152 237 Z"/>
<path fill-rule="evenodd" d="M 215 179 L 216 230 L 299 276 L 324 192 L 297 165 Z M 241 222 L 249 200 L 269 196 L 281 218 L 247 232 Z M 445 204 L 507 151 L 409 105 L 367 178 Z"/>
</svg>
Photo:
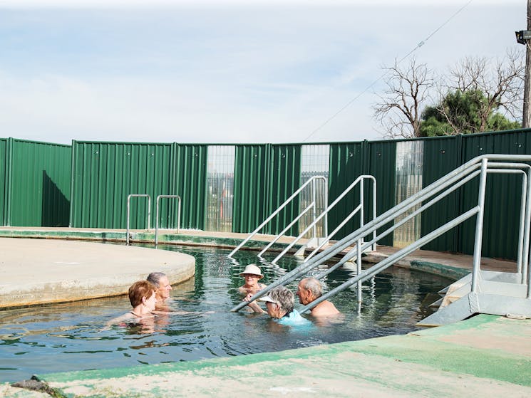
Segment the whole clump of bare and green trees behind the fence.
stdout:
<svg viewBox="0 0 531 398">
<path fill-rule="evenodd" d="M 436 75 L 411 58 L 386 70 L 386 90 L 373 105 L 384 137 L 433 137 L 522 127 L 524 57 L 468 57 Z"/>
</svg>

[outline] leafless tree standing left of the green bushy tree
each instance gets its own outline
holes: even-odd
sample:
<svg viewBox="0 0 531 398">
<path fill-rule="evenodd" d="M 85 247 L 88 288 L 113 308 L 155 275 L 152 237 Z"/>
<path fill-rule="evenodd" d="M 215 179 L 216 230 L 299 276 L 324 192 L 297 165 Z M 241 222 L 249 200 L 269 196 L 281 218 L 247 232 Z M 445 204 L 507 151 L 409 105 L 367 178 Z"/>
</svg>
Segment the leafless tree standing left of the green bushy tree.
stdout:
<svg viewBox="0 0 531 398">
<path fill-rule="evenodd" d="M 387 89 L 380 101 L 373 105 L 373 117 L 384 128 L 386 138 L 419 137 L 421 107 L 433 87 L 431 71 L 426 64 L 411 58 L 408 66 L 401 68 L 398 62 L 386 70 Z"/>
</svg>

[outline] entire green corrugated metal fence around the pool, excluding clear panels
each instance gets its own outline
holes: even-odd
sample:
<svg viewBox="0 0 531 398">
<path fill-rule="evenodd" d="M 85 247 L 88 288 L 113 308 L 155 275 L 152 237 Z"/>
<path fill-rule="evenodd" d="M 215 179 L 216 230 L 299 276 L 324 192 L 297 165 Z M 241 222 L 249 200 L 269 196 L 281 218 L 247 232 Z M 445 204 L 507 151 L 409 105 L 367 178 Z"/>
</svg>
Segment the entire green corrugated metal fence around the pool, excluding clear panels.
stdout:
<svg viewBox="0 0 531 398">
<path fill-rule="evenodd" d="M 531 154 L 530 131 L 423 140 L 423 187 L 478 155 Z M 371 174 L 378 184 L 377 214 L 394 206 L 397 142 L 329 144 L 329 203 L 360 174 Z M 208 147 L 207 144 L 75 141 L 68 146 L 0 139 L 0 221 L 2 225 L 12 226 L 66 226 L 69 221 L 75 227 L 124 229 L 128 194 L 150 194 L 153 228 L 156 197 L 178 194 L 182 199 L 181 227 L 204 229 Z M 301 145 L 249 144 L 235 145 L 235 148 L 232 231 L 249 232 L 299 188 Z M 488 176 L 485 256 L 515 258 L 520 187 L 520 177 Z M 471 182 L 424 212 L 421 233 L 426 234 L 475 206 L 477 189 L 478 182 Z M 365 199 L 371 203 L 371 189 L 367 191 Z M 331 211 L 329 231 L 354 209 L 358 197 L 357 190 L 351 192 Z M 146 206 L 146 199 L 132 199 L 131 228 L 145 228 Z M 176 201 L 161 201 L 162 228 L 175 227 L 175 208 Z M 278 233 L 297 214 L 299 201 L 296 200 L 262 232 Z M 370 208 L 365 209 L 365 215 L 368 221 Z M 349 221 L 334 239 L 340 239 L 358 226 L 359 219 Z M 296 235 L 297 230 L 293 227 L 289 234 Z M 472 253 L 474 231 L 475 219 L 424 248 Z M 392 245 L 393 236 L 378 243 Z"/>
</svg>

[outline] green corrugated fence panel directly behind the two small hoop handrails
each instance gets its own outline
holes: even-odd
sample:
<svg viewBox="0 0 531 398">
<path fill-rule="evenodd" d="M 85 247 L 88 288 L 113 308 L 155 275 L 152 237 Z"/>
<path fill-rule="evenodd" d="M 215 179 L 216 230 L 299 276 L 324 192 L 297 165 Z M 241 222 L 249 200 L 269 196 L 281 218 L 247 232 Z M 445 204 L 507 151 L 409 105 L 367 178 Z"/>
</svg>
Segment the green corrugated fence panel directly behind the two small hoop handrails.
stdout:
<svg viewBox="0 0 531 398">
<path fill-rule="evenodd" d="M 75 205 L 71 225 L 125 229 L 128 195 L 149 194 L 152 202 L 150 226 L 153 227 L 156 197 L 172 194 L 172 145 L 123 142 L 74 142 L 73 145 L 72 197 Z M 131 198 L 131 229 L 146 228 L 147 200 Z M 163 216 L 167 215 L 168 204 L 164 206 Z"/>
</svg>

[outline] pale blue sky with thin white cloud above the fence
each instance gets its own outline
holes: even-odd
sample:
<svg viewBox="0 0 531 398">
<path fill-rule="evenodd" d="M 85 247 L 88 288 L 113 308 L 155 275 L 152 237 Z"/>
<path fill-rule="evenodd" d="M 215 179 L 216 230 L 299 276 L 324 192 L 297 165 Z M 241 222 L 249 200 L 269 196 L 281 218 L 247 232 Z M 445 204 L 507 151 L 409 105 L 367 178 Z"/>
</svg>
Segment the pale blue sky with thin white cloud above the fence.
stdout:
<svg viewBox="0 0 531 398">
<path fill-rule="evenodd" d="M 443 73 L 523 52 L 526 12 L 526 0 L 0 0 L 0 137 L 380 140 L 383 66 L 411 53 Z"/>
</svg>

